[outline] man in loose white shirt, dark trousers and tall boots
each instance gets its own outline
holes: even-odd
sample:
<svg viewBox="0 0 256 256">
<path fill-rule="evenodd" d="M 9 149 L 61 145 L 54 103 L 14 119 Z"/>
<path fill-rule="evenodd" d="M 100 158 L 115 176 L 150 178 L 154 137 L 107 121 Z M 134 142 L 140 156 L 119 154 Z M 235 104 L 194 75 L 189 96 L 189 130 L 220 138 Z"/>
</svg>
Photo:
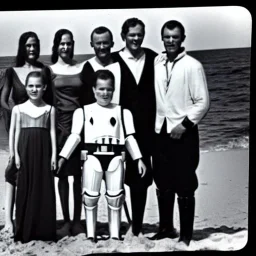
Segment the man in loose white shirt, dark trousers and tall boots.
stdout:
<svg viewBox="0 0 256 256">
<path fill-rule="evenodd" d="M 155 60 L 155 154 L 160 226 L 151 239 L 178 236 L 173 227 L 175 194 L 180 214 L 180 242 L 187 246 L 193 234 L 199 163 L 197 124 L 209 109 L 209 94 L 202 64 L 182 47 L 183 25 L 175 20 L 161 29 L 165 52 Z"/>
</svg>

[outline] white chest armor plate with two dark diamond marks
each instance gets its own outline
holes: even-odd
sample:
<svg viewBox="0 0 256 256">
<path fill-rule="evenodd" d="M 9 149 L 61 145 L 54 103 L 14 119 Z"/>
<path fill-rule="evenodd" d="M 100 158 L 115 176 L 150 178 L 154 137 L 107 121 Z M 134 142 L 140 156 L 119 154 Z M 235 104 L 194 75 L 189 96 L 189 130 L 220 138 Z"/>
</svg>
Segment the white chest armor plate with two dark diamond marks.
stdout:
<svg viewBox="0 0 256 256">
<path fill-rule="evenodd" d="M 93 144 L 124 145 L 124 127 L 121 107 L 110 104 L 108 108 L 97 103 L 84 106 L 84 142 Z"/>
</svg>

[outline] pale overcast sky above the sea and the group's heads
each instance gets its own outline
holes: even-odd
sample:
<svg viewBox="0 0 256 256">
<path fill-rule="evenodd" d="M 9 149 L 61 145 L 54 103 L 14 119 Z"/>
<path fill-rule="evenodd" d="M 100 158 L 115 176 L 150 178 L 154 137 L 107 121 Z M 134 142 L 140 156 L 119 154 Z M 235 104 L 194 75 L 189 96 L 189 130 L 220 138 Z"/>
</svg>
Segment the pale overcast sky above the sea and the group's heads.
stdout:
<svg viewBox="0 0 256 256">
<path fill-rule="evenodd" d="M 124 46 L 120 32 L 123 22 L 137 17 L 146 25 L 143 46 L 163 50 L 160 30 L 171 19 L 185 27 L 187 51 L 251 47 L 252 18 L 250 12 L 239 6 L 53 10 L 53 11 L 0 11 L 0 56 L 17 53 L 20 35 L 34 31 L 41 42 L 41 55 L 51 54 L 54 34 L 67 28 L 74 34 L 75 54 L 93 53 L 90 47 L 91 31 L 97 26 L 108 27 L 114 35 L 113 51 Z"/>
</svg>

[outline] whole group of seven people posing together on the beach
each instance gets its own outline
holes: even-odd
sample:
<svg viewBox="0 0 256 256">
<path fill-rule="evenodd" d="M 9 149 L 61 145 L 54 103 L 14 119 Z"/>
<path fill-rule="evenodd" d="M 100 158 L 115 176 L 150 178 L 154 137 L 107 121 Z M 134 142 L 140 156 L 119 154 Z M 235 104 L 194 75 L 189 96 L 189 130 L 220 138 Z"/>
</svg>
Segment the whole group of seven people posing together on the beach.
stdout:
<svg viewBox="0 0 256 256">
<path fill-rule="evenodd" d="M 189 245 L 198 187 L 197 124 L 209 109 L 207 82 L 202 64 L 182 46 L 186 36 L 179 21 L 162 26 L 163 53 L 142 47 L 144 36 L 143 21 L 127 19 L 121 30 L 125 46 L 112 53 L 112 32 L 97 27 L 90 42 L 95 56 L 77 63 L 73 34 L 60 29 L 53 40 L 52 65 L 45 66 L 38 62 L 37 35 L 21 35 L 16 65 L 6 70 L 1 92 L 10 148 L 2 232 L 14 232 L 22 242 L 56 240 L 56 233 L 86 233 L 97 242 L 104 180 L 110 238 L 121 239 L 124 184 L 130 188 L 132 233 L 138 236 L 154 180 L 160 224 L 150 239 L 179 237 Z M 64 219 L 57 231 L 54 176 Z M 73 221 L 69 176 L 74 178 Z M 175 194 L 179 233 L 173 225 Z M 86 230 L 80 222 L 82 204 Z"/>
</svg>

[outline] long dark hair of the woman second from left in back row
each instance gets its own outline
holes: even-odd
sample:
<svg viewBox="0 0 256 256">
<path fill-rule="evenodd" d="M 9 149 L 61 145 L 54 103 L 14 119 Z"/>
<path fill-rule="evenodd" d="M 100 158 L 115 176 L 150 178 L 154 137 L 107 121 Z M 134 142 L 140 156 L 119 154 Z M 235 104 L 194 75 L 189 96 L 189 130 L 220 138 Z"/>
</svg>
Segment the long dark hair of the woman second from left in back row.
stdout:
<svg viewBox="0 0 256 256">
<path fill-rule="evenodd" d="M 66 34 L 70 35 L 71 40 L 72 40 L 72 44 L 73 44 L 70 58 L 72 59 L 73 56 L 74 56 L 74 38 L 73 38 L 72 32 L 68 29 L 64 29 L 64 28 L 60 29 L 55 33 L 55 36 L 54 36 L 54 39 L 53 39 L 52 56 L 51 56 L 51 61 L 52 61 L 53 64 L 55 64 L 58 61 L 58 57 L 59 57 L 58 47 L 60 45 L 62 36 L 66 35 Z"/>
</svg>

